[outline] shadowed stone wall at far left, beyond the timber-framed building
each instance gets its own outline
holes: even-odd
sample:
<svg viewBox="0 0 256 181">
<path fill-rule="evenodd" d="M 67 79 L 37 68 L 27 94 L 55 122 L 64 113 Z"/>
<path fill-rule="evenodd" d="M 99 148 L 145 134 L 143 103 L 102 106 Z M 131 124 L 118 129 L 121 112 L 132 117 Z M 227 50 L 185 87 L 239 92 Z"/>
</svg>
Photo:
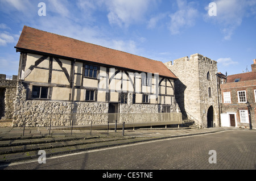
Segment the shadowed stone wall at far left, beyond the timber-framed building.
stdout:
<svg viewBox="0 0 256 181">
<path fill-rule="evenodd" d="M 13 119 L 14 100 L 16 95 L 17 76 L 6 77 L 0 74 L 0 119 Z"/>
</svg>

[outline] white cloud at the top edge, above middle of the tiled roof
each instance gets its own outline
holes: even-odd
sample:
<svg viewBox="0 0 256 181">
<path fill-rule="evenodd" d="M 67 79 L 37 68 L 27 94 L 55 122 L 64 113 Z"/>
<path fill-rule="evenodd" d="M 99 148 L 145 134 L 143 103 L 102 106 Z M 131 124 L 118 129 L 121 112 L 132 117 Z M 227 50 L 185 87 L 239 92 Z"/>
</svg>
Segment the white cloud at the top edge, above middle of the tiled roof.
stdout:
<svg viewBox="0 0 256 181">
<path fill-rule="evenodd" d="M 155 0 L 107 1 L 109 23 L 129 27 L 132 23 L 142 22 L 149 6 L 154 2 Z"/>
</svg>

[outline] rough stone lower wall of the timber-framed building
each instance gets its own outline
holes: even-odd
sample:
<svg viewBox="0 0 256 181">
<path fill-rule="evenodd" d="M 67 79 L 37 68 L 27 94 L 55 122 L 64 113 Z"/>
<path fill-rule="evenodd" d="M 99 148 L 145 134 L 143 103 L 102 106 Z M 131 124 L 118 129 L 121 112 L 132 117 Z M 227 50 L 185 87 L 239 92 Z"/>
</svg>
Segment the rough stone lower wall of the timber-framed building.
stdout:
<svg viewBox="0 0 256 181">
<path fill-rule="evenodd" d="M 129 103 L 119 104 L 118 117 L 119 123 L 139 123 L 141 121 L 158 121 L 158 117 L 150 117 L 150 113 L 159 113 L 162 111 L 162 106 L 158 104 L 133 104 L 133 98 L 129 93 Z M 15 110 L 13 116 L 13 126 L 22 127 L 25 123 L 27 127 L 44 127 L 49 125 L 68 126 L 71 119 L 71 102 L 67 101 L 52 101 L 52 100 L 27 100 L 27 85 L 26 83 L 18 82 Z M 116 115 L 108 114 L 108 102 L 73 102 L 73 112 L 76 112 L 76 125 L 85 124 L 103 124 L 108 123 L 111 119 L 116 119 Z M 177 111 L 176 102 L 171 106 L 171 111 Z M 129 117 L 133 115 L 132 119 Z M 140 115 L 138 117 L 134 115 Z M 141 115 L 144 115 L 143 117 Z M 149 115 L 149 116 L 148 116 Z M 177 115 L 179 116 L 179 115 Z"/>
</svg>

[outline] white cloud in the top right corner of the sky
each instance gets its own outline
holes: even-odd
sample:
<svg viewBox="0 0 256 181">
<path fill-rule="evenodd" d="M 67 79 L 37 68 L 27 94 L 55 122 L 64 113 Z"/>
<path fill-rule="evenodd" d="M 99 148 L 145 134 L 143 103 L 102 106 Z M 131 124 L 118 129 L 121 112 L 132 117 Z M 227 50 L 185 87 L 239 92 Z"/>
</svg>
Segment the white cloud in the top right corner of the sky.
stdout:
<svg viewBox="0 0 256 181">
<path fill-rule="evenodd" d="M 241 26 L 243 18 L 254 14 L 255 0 L 216 0 L 217 16 L 209 16 L 209 7 L 205 7 L 206 21 L 216 23 L 224 35 L 224 40 L 230 40 L 237 27 Z M 254 10 L 253 10 L 254 9 Z"/>
</svg>

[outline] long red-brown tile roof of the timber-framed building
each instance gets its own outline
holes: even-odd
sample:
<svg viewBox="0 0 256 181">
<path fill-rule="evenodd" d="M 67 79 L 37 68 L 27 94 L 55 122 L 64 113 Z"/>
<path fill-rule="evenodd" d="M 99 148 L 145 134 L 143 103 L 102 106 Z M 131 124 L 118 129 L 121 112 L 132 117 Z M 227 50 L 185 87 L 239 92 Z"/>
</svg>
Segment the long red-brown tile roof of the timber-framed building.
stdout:
<svg viewBox="0 0 256 181">
<path fill-rule="evenodd" d="M 15 48 L 92 61 L 146 73 L 159 73 L 164 77 L 177 78 L 163 62 L 27 26 L 23 27 Z"/>
</svg>

